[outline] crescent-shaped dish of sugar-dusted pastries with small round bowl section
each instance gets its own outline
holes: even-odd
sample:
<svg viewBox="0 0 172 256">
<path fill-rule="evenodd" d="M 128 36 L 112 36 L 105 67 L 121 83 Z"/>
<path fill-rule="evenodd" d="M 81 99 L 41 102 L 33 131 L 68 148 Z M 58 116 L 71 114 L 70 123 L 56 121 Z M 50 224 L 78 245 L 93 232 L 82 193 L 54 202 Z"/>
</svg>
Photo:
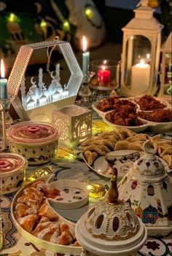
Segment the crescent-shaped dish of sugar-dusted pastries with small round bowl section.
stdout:
<svg viewBox="0 0 172 256">
<path fill-rule="evenodd" d="M 80 255 L 82 247 L 75 238 L 75 224 L 58 214 L 53 204 L 57 208 L 60 206 L 60 209 L 66 209 L 61 201 L 69 208 L 71 201 L 82 201 L 83 206 L 89 195 L 86 185 L 65 179 L 50 182 L 50 179 L 37 179 L 17 192 L 11 206 L 15 227 L 21 236 L 38 247 L 52 252 Z M 79 205 L 77 203 L 76 208 Z"/>
</svg>

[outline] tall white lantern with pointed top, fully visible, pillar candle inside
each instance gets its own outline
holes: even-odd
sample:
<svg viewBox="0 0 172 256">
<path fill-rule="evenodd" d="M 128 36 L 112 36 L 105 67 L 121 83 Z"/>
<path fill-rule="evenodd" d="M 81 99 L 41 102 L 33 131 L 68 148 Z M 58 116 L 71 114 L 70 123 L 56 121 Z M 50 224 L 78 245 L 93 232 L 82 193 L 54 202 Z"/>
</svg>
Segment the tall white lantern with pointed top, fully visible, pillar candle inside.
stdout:
<svg viewBox="0 0 172 256">
<path fill-rule="evenodd" d="M 121 88 L 123 96 L 141 96 L 156 92 L 160 58 L 160 32 L 163 28 L 154 17 L 148 0 L 134 10 L 135 18 L 122 28 Z"/>
</svg>

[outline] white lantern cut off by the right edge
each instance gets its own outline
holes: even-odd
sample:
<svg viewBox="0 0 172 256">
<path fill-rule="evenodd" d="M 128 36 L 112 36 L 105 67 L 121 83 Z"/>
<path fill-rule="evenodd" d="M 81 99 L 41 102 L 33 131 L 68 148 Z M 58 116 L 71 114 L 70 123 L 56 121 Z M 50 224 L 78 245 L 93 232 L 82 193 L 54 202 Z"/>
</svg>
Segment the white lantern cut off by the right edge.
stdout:
<svg viewBox="0 0 172 256">
<path fill-rule="evenodd" d="M 172 97 L 172 33 L 161 48 L 160 97 L 171 101 Z"/>
</svg>

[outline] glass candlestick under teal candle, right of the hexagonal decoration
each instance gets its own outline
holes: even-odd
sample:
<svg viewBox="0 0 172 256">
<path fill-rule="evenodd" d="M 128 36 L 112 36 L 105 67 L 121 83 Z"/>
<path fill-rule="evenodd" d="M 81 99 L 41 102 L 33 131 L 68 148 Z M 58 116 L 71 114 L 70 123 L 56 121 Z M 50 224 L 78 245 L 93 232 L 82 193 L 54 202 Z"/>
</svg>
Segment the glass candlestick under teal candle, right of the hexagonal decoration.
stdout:
<svg viewBox="0 0 172 256">
<path fill-rule="evenodd" d="M 91 95 L 92 92 L 89 88 L 89 82 L 90 79 L 94 76 L 95 72 L 93 71 L 88 71 L 87 74 L 84 74 L 84 77 L 82 79 L 82 85 L 81 88 L 79 90 L 79 96 L 81 97 L 81 100 L 79 102 L 80 106 L 86 106 L 89 107 L 91 106 Z"/>
</svg>

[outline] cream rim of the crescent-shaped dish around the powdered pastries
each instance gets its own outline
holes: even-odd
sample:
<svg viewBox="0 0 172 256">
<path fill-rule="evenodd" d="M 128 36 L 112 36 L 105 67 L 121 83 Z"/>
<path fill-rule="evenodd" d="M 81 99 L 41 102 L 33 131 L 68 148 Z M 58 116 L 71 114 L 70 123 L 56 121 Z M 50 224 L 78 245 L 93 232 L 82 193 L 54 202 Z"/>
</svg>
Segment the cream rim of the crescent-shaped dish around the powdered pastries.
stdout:
<svg viewBox="0 0 172 256">
<path fill-rule="evenodd" d="M 47 177 L 42 177 L 40 179 L 44 180 L 45 182 L 50 182 L 54 179 L 54 175 L 48 175 Z M 39 179 L 37 179 L 37 180 L 39 180 Z M 36 180 L 34 182 L 36 182 Z M 28 183 L 28 185 L 26 185 L 26 187 L 29 187 L 34 182 Z M 71 180 L 70 180 L 70 182 L 71 182 Z M 52 183 L 54 183 L 54 182 L 52 182 Z M 80 182 L 80 183 L 82 183 L 82 182 Z M 54 185 L 55 185 L 55 183 L 54 183 Z M 17 202 L 17 198 L 19 198 L 23 194 L 23 190 L 26 187 L 22 187 L 16 193 L 15 197 L 12 200 L 12 205 L 11 205 L 12 220 L 14 221 L 15 227 L 17 228 L 17 231 L 20 233 L 20 235 L 23 236 L 23 238 L 26 238 L 26 240 L 35 244 L 36 246 L 47 249 L 47 250 L 50 250 L 52 252 L 58 252 L 58 253 L 69 254 L 69 255 L 80 255 L 80 253 L 82 252 L 82 247 L 74 247 L 74 246 L 69 246 L 69 245 L 60 245 L 60 244 L 52 243 L 50 241 L 45 241 L 41 238 L 38 238 L 38 237 L 32 235 L 31 233 L 28 233 L 28 231 L 24 230 L 20 226 L 20 224 L 17 222 L 17 220 L 15 218 L 15 214 L 14 214 L 15 204 Z M 55 187 L 55 188 L 57 188 L 57 187 Z M 52 206 L 51 202 L 52 202 L 52 199 L 47 200 L 47 203 L 49 204 L 49 206 Z M 56 204 L 56 207 L 57 206 L 58 206 L 58 204 Z M 52 207 L 52 209 L 53 209 L 53 207 Z M 53 209 L 53 210 L 55 211 L 55 209 Z M 73 227 L 73 228 L 75 227 L 75 224 L 73 222 L 70 222 L 69 220 L 66 220 L 59 213 L 58 213 L 58 215 L 59 215 L 59 218 L 62 222 L 65 222 L 70 227 Z"/>
</svg>

